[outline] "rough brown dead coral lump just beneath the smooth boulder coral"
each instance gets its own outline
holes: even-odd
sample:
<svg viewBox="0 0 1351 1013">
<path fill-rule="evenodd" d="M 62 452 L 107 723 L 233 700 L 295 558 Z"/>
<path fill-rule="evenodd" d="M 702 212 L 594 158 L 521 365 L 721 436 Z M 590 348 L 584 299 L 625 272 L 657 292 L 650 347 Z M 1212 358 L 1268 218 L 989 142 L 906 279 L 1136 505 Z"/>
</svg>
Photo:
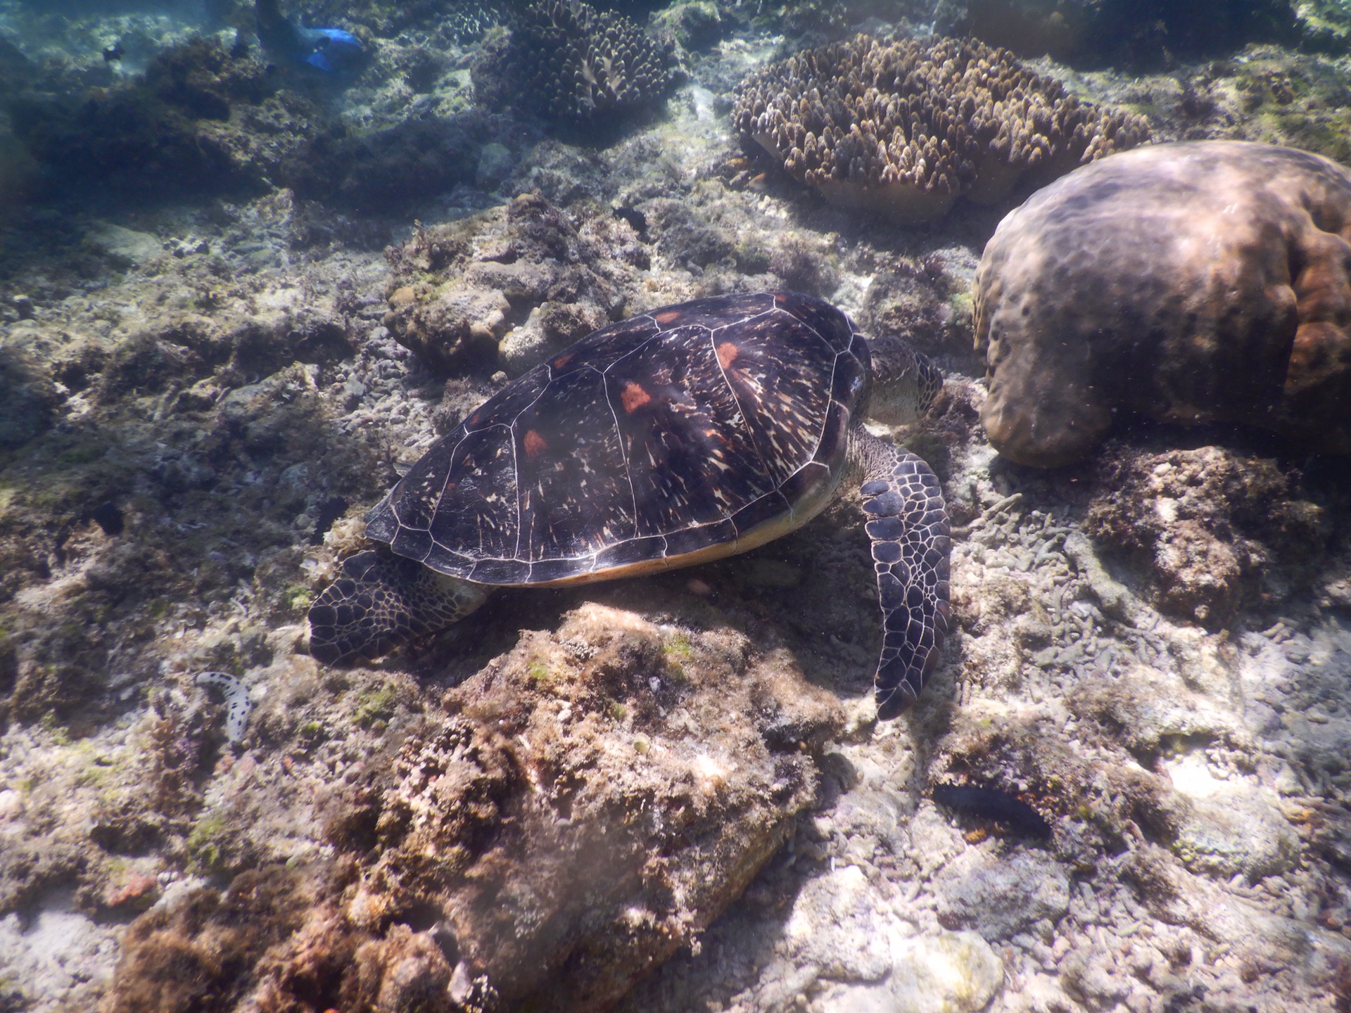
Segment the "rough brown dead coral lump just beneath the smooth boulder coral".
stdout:
<svg viewBox="0 0 1351 1013">
<path fill-rule="evenodd" d="M 1163 612 L 1206 625 L 1244 598 L 1279 601 L 1306 585 L 1328 539 L 1324 511 L 1270 458 L 1220 447 L 1162 454 L 1111 447 L 1086 520 L 1142 561 Z"/>
</svg>

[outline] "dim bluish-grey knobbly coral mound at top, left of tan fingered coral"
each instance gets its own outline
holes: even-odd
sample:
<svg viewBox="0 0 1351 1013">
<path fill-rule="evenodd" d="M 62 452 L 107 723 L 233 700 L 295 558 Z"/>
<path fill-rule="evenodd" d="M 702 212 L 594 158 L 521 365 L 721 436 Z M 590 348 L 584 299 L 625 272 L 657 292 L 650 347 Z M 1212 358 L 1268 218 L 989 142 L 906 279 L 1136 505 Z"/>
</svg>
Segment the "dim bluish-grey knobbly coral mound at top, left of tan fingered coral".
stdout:
<svg viewBox="0 0 1351 1013">
<path fill-rule="evenodd" d="M 531 4 L 496 58 L 474 66 L 474 93 L 511 99 L 546 120 L 612 127 L 663 100 L 676 84 L 666 47 L 628 18 L 580 0 Z"/>
</svg>

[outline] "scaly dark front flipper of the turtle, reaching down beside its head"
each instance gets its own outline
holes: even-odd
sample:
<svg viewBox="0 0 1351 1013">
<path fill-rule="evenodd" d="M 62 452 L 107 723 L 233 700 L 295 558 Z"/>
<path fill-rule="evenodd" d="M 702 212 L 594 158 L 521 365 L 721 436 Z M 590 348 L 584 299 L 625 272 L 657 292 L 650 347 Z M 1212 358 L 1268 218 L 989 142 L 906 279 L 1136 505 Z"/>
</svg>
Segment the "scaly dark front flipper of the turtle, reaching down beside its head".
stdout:
<svg viewBox="0 0 1351 1013">
<path fill-rule="evenodd" d="M 873 686 L 877 716 L 888 720 L 915 702 L 938 665 L 951 615 L 952 543 L 943 490 L 924 461 L 862 427 L 854 452 L 885 629 Z"/>
</svg>

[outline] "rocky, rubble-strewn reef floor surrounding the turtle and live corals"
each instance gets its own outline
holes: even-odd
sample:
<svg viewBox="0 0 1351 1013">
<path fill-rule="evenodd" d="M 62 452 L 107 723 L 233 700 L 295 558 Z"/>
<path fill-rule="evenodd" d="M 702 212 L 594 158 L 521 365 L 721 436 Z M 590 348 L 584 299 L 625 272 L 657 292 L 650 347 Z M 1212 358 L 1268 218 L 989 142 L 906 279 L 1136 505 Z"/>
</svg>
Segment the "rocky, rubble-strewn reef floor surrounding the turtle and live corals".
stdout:
<svg viewBox="0 0 1351 1013">
<path fill-rule="evenodd" d="M 650 31 L 694 80 L 604 147 L 473 108 L 455 3 L 282 5 L 367 69 L 259 74 L 251 0 L 0 3 L 0 1008 L 1344 1013 L 1348 459 L 1154 424 L 1077 467 L 1000 458 L 970 297 L 996 212 L 797 213 L 728 128 L 785 49 L 925 34 L 932 3 L 669 8 Z M 1327 54 L 1035 68 L 1161 138 L 1351 150 Z M 24 104 L 69 174 L 11 130 Z M 85 105 L 124 132 L 82 134 Z M 361 517 L 503 374 L 628 307 L 789 282 L 947 374 L 894 434 L 954 517 L 950 642 L 905 721 L 865 701 L 847 500 L 315 663 L 305 611 Z M 253 701 L 238 742 L 204 671 Z"/>
</svg>

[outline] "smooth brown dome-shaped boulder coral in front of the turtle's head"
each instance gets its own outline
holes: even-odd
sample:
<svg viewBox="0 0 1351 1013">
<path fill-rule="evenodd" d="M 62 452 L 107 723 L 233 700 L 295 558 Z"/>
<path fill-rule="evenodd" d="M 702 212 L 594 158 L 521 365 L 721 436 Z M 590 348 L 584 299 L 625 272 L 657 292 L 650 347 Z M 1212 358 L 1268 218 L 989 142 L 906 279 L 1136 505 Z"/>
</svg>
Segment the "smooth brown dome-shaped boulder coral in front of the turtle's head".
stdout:
<svg viewBox="0 0 1351 1013">
<path fill-rule="evenodd" d="M 1351 172 L 1305 151 L 1159 145 L 1058 180 L 975 274 L 990 443 L 1055 467 L 1127 411 L 1351 451 L 1348 239 Z"/>
</svg>

